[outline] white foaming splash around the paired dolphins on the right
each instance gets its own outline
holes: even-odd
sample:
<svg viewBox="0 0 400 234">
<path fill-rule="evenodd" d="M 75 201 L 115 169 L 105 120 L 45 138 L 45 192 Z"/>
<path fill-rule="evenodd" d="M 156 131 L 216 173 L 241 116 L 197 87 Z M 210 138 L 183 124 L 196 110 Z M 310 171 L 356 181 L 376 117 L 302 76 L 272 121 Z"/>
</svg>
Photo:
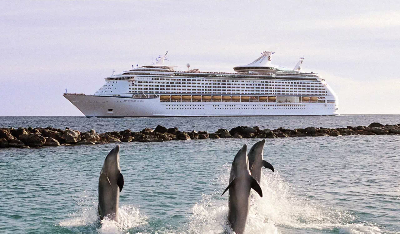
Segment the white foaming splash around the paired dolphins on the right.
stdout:
<svg viewBox="0 0 400 234">
<path fill-rule="evenodd" d="M 354 223 L 357 217 L 350 211 L 322 206 L 315 200 L 298 196 L 278 172 L 268 173 L 264 170 L 263 173 L 260 185 L 264 196 L 261 198 L 252 192 L 254 196 L 250 202 L 246 233 L 278 234 L 304 229 L 342 234 L 381 233 L 376 226 Z M 228 184 L 228 173 L 224 174 L 218 179 L 221 188 Z M 202 201 L 193 206 L 189 233 L 234 233 L 226 223 L 228 201 L 221 200 L 219 196 L 217 193 L 203 195 Z"/>
</svg>

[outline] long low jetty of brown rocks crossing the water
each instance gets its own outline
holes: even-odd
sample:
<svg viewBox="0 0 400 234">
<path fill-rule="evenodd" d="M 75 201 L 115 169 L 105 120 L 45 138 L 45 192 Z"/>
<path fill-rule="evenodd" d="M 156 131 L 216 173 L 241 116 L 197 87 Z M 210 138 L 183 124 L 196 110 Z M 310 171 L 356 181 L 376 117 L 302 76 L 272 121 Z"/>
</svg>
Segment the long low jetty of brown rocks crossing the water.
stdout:
<svg viewBox="0 0 400 234">
<path fill-rule="evenodd" d="M 179 131 L 177 127 L 166 128 L 158 125 L 154 130 L 145 128 L 139 132 L 130 129 L 96 133 L 95 130 L 80 132 L 52 127 L 46 128 L 0 128 L 0 148 L 7 147 L 48 147 L 60 145 L 95 145 L 116 142 L 163 142 L 172 140 L 220 139 L 220 138 L 279 138 L 279 137 L 328 137 L 352 135 L 396 135 L 400 134 L 400 123 L 383 125 L 371 123 L 367 126 L 347 126 L 341 128 L 307 127 L 305 129 L 260 129 L 259 127 L 239 126 L 218 129 L 215 133 L 206 131 Z"/>
</svg>

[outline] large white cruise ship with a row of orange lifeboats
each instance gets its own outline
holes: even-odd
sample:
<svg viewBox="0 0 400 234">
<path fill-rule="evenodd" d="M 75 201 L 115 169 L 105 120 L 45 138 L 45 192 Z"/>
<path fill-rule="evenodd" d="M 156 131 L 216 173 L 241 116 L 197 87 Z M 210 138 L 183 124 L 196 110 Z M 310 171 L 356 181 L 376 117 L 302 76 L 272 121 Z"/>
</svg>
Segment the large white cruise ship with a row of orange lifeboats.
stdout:
<svg viewBox="0 0 400 234">
<path fill-rule="evenodd" d="M 338 97 L 318 73 L 273 65 L 271 51 L 234 72 L 151 65 L 105 78 L 93 95 L 64 93 L 86 117 L 338 115 Z"/>
</svg>

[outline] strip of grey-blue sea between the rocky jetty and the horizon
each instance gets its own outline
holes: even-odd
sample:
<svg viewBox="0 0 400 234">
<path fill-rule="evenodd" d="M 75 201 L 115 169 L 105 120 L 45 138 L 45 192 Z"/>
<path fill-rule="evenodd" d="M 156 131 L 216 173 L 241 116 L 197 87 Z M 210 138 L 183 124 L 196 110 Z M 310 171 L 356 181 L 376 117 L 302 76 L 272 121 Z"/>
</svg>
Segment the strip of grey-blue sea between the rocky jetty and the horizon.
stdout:
<svg viewBox="0 0 400 234">
<path fill-rule="evenodd" d="M 258 126 L 260 129 L 306 128 L 306 127 L 347 127 L 368 126 L 370 123 L 400 124 L 400 115 L 338 115 L 338 116 L 257 116 L 257 117 L 155 117 L 155 118 L 86 118 L 84 116 L 26 116 L 1 117 L 0 127 L 55 127 L 79 131 L 95 129 L 103 133 L 131 129 L 139 131 L 146 127 L 178 127 L 181 131 L 215 132 L 220 128 L 232 129 L 237 126 Z"/>
</svg>

